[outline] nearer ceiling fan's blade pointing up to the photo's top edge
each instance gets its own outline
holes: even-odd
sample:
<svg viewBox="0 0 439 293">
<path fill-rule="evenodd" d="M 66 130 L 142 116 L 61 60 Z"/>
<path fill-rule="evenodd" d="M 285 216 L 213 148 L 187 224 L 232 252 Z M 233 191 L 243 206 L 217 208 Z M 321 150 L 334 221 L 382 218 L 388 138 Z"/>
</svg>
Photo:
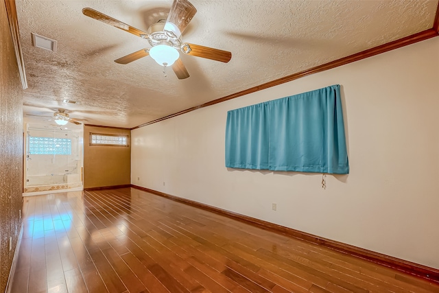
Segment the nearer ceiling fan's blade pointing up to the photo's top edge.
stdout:
<svg viewBox="0 0 439 293">
<path fill-rule="evenodd" d="M 167 16 L 164 30 L 173 32 L 180 38 L 193 16 L 197 13 L 195 7 L 187 0 L 174 0 Z"/>
</svg>

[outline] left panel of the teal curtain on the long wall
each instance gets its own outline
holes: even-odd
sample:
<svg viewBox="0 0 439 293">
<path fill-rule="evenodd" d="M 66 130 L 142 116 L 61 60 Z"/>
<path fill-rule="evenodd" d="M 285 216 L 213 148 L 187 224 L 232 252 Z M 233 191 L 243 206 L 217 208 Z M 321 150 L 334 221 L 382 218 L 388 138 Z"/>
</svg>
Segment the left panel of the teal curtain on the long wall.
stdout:
<svg viewBox="0 0 439 293">
<path fill-rule="evenodd" d="M 268 103 L 227 113 L 226 166 L 241 169 L 268 169 L 270 119 Z"/>
</svg>

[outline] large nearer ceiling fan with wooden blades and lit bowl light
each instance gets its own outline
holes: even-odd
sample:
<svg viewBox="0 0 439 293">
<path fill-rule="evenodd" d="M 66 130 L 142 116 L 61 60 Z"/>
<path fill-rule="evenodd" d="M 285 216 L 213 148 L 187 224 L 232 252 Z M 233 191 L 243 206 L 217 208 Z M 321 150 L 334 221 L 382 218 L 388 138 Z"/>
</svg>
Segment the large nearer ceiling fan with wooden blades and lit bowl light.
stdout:
<svg viewBox="0 0 439 293">
<path fill-rule="evenodd" d="M 179 51 L 182 51 L 182 53 L 187 55 L 225 63 L 232 58 L 232 53 L 229 51 L 190 43 L 182 43 L 180 38 L 181 34 L 196 12 L 197 10 L 189 1 L 174 0 L 167 16 L 167 20 L 161 20 L 154 23 L 146 33 L 92 8 L 84 8 L 82 10 L 84 15 L 91 17 L 92 19 L 102 21 L 103 23 L 117 27 L 120 30 L 140 36 L 150 43 L 151 48 L 141 49 L 127 56 L 123 56 L 122 58 L 115 60 L 115 62 L 126 65 L 134 60 L 150 55 L 159 65 L 162 65 L 165 68 L 171 66 L 172 70 L 176 73 L 177 78 L 180 80 L 189 78 L 189 73 L 180 59 Z"/>
</svg>

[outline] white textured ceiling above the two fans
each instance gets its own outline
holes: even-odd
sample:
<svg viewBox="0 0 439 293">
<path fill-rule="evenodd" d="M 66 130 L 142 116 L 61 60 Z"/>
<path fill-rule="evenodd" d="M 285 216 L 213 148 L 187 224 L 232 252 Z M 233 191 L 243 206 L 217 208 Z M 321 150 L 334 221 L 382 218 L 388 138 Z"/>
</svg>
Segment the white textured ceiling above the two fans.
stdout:
<svg viewBox="0 0 439 293">
<path fill-rule="evenodd" d="M 147 56 L 146 40 L 82 14 L 93 8 L 140 30 L 165 19 L 172 1 L 16 0 L 28 89 L 25 115 L 57 108 L 87 124 L 132 128 L 433 26 L 438 1 L 192 0 L 183 42 L 232 52 L 228 63 L 180 54 L 191 75 Z M 31 32 L 58 40 L 32 47 Z M 80 104 L 62 103 L 73 99 Z"/>
</svg>

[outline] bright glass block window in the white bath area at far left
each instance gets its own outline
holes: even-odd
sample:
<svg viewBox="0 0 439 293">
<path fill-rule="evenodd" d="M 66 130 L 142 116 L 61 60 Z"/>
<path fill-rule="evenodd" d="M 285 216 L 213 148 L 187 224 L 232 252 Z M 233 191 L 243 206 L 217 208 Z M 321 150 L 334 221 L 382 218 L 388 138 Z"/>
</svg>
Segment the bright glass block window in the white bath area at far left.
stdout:
<svg viewBox="0 0 439 293">
<path fill-rule="evenodd" d="M 29 154 L 71 154 L 71 139 L 29 137 Z"/>
</svg>

